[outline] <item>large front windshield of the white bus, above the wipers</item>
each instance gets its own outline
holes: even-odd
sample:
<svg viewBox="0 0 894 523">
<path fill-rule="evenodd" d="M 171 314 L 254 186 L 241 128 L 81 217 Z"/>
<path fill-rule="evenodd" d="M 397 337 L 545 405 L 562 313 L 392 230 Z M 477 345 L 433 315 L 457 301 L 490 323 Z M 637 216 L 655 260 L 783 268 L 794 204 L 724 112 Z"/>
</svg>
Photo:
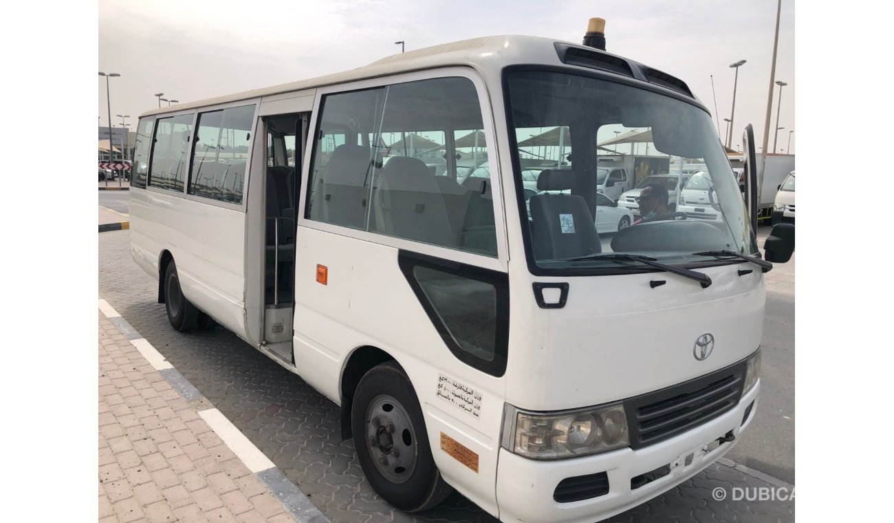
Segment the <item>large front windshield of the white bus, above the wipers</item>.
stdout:
<svg viewBox="0 0 894 523">
<path fill-rule="evenodd" d="M 575 146 L 573 166 L 545 169 L 540 192 L 520 206 L 527 212 L 529 266 L 545 274 L 617 274 L 637 263 L 599 255 L 641 255 L 685 266 L 718 260 L 697 252 L 758 253 L 744 199 L 704 109 L 583 73 L 506 74 L 514 164 L 556 162 L 572 140 Z M 565 130 L 564 143 L 554 139 L 557 129 Z M 616 200 L 596 189 L 604 175 L 595 165 L 609 160 L 633 175 L 633 189 L 623 189 Z M 693 165 L 710 184 L 697 205 L 682 195 Z M 514 175 L 520 184 L 521 174 Z"/>
</svg>

